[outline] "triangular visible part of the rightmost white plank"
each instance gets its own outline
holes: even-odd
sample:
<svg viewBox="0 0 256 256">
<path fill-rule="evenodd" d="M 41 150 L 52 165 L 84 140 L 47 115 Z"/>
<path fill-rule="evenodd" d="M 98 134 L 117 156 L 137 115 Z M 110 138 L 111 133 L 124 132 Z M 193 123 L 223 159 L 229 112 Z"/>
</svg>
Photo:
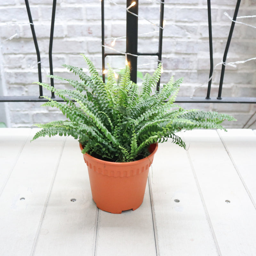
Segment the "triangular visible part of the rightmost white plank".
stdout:
<svg viewBox="0 0 256 256">
<path fill-rule="evenodd" d="M 229 129 L 218 133 L 256 208 L 256 134 L 250 129 Z"/>
</svg>

